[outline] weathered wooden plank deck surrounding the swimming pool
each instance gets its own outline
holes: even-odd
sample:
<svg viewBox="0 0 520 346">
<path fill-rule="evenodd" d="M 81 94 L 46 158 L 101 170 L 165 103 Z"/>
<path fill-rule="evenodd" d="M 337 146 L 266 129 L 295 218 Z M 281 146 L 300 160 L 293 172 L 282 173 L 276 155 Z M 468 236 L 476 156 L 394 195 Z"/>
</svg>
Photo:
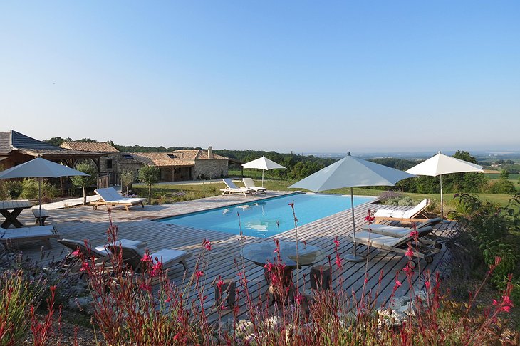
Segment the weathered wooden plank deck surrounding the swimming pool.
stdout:
<svg viewBox="0 0 520 346">
<path fill-rule="evenodd" d="M 212 242 L 212 250 L 206 253 L 207 266 L 201 269 L 204 271 L 206 283 L 206 294 L 208 295 L 205 305 L 211 307 L 214 303 L 214 289 L 211 284 L 214 278 L 221 276 L 222 278 L 232 278 L 236 281 L 239 287 L 239 270 L 246 273 L 249 281 L 249 293 L 253 298 L 258 295 L 264 295 L 266 290 L 266 283 L 264 281 L 264 268 L 256 266 L 254 263 L 244 261 L 239 255 L 241 248 L 240 236 L 234 234 L 226 234 L 217 231 L 209 231 L 203 229 L 194 229 L 185 226 L 177 226 L 172 224 L 165 224 L 153 221 L 153 219 L 175 216 L 185 214 L 193 211 L 202 211 L 206 209 L 217 208 L 221 206 L 231 206 L 233 204 L 240 204 L 248 201 L 269 198 L 272 196 L 280 196 L 288 194 L 288 192 L 269 192 L 267 195 L 248 196 L 236 194 L 232 196 L 214 196 L 206 199 L 199 199 L 195 201 L 186 201 L 175 204 L 165 204 L 157 206 L 145 206 L 142 209 L 140 206 L 130 208 L 130 211 L 125 211 L 123 207 L 116 207 L 112 209 L 112 219 L 114 224 L 118 226 L 119 238 L 127 238 L 136 241 L 146 241 L 150 248 L 150 252 L 158 251 L 161 248 L 175 248 L 184 251 L 191 251 L 193 256 L 188 258 L 189 274 L 194 271 L 194 267 L 199 258 L 199 253 L 204 250 L 202 241 L 208 239 Z M 366 224 L 365 216 L 368 209 L 378 209 L 384 207 L 388 209 L 389 206 L 379 206 L 375 204 L 363 204 L 355 208 L 355 224 L 358 231 Z M 291 213 L 289 206 L 288 213 Z M 403 209 L 403 207 L 390 207 L 395 209 Z M 298 216 L 298 205 L 295 205 L 296 216 Z M 30 211 L 24 211 L 19 216 L 19 219 L 26 225 L 33 225 L 33 215 Z M 90 206 L 77 207 L 71 209 L 54 210 L 51 212 L 51 223 L 56 226 L 62 238 L 83 240 L 88 239 L 91 244 L 97 246 L 106 243 L 106 230 L 108 229 L 108 213 L 104 207 L 100 207 L 94 211 Z M 238 223 L 237 218 L 237 223 Z M 445 236 L 447 230 L 453 226 L 452 224 L 440 224 L 437 226 L 437 235 Z M 349 236 L 352 234 L 352 216 L 350 209 L 342 211 L 338 214 L 328 216 L 324 219 L 314 221 L 311 224 L 298 226 L 298 240 L 306 241 L 307 244 L 323 248 L 326 253 L 331 256 L 331 263 L 334 263 L 336 253 L 334 252 L 334 238 L 338 236 L 340 241 L 339 254 L 345 256 L 353 249 L 353 243 Z M 296 231 L 286 231 L 279 236 L 280 240 L 295 241 Z M 243 244 L 256 243 L 260 241 L 272 241 L 271 238 L 254 238 L 246 236 Z M 53 248 L 51 251 L 45 251 L 43 261 L 52 261 L 64 256 L 67 252 L 63 246 L 56 243 L 56 240 L 51 240 Z M 24 255 L 33 259 L 41 258 L 41 247 L 38 243 L 27 243 L 21 246 L 21 251 Z M 367 248 L 365 246 L 358 246 L 358 252 L 365 254 Z M 386 251 L 378 251 L 377 249 L 370 249 L 370 261 L 368 266 L 366 262 L 351 263 L 343 261 L 343 269 L 341 273 L 337 266 L 333 264 L 333 288 L 337 289 L 339 285 L 339 276 L 343 278 L 343 288 L 345 292 L 355 292 L 360 295 L 363 290 L 363 283 L 365 277 L 365 266 L 368 272 L 368 283 L 365 287 L 365 292 L 368 290 L 378 290 L 379 303 L 386 303 L 390 297 L 395 285 L 396 273 L 399 272 L 398 278 L 402 285 L 397 290 L 395 296 L 400 297 L 406 295 L 410 289 L 405 273 L 402 268 L 406 266 L 407 258 L 399 253 L 388 253 Z M 420 261 L 420 265 L 415 270 L 415 281 L 412 285 L 415 289 L 422 288 L 422 273 L 425 271 L 440 271 L 444 272 L 449 263 L 449 251 L 443 247 L 442 251 L 438 253 L 433 263 L 427 264 L 424 260 Z M 328 259 L 317 264 L 328 264 Z M 310 287 L 308 273 L 310 268 L 302 268 L 298 273 L 294 272 L 294 281 L 296 282 L 296 275 L 298 275 L 298 287 L 303 291 Z M 383 273 L 383 278 L 379 284 L 380 273 Z M 178 285 L 183 284 L 183 268 L 182 266 L 174 266 L 170 271 L 170 279 Z M 303 280 L 303 274 L 306 275 L 306 282 Z M 239 302 L 240 304 L 241 302 Z M 242 304 L 243 305 L 243 304 Z M 229 310 L 222 311 L 222 319 L 227 319 L 232 316 Z M 241 310 L 240 318 L 246 318 L 246 311 Z M 217 313 L 210 315 L 210 320 L 219 318 Z"/>
</svg>

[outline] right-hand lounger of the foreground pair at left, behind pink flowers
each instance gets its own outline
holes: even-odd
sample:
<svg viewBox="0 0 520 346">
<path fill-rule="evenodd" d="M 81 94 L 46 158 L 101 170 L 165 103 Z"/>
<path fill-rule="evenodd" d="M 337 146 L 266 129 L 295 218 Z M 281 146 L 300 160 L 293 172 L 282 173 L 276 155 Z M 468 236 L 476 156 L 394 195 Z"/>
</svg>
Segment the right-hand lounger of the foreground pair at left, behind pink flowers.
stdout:
<svg viewBox="0 0 520 346">
<path fill-rule="evenodd" d="M 127 244 L 121 244 L 121 246 L 117 246 L 115 248 L 113 247 L 113 244 L 110 244 L 108 245 L 108 248 L 112 252 L 119 251 L 119 248 L 121 248 L 123 261 L 125 261 L 128 266 L 131 266 L 136 272 L 142 272 L 145 269 L 145 263 L 141 261 L 143 256 L 145 256 L 144 249 Z M 177 263 L 180 263 L 182 266 L 184 266 L 184 271 L 188 271 L 186 258 L 191 256 L 192 253 L 181 250 L 172 250 L 170 248 L 163 248 L 162 250 L 155 253 L 150 253 L 150 257 L 152 257 L 154 260 L 157 258 L 162 262 L 162 268 L 165 270 L 171 268 Z"/>
</svg>

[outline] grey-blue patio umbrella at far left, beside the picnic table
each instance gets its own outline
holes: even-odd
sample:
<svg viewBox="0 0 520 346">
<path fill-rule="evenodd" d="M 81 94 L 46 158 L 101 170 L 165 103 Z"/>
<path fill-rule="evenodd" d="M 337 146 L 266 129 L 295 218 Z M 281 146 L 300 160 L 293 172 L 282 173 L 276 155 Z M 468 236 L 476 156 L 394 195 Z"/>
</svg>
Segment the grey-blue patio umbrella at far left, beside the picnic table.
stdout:
<svg viewBox="0 0 520 346">
<path fill-rule="evenodd" d="M 41 157 L 31 159 L 31 161 L 19 164 L 18 166 L 11 167 L 5 171 L 0 172 L 0 179 L 11 179 L 11 178 L 36 178 L 38 179 L 38 194 L 40 203 L 40 215 L 41 215 L 41 179 L 42 178 L 58 178 L 58 177 L 69 177 L 73 175 L 85 175 L 89 174 L 80 172 L 76 169 L 63 166 L 63 164 L 57 164 Z M 42 218 L 40 218 L 40 225 Z"/>
</svg>

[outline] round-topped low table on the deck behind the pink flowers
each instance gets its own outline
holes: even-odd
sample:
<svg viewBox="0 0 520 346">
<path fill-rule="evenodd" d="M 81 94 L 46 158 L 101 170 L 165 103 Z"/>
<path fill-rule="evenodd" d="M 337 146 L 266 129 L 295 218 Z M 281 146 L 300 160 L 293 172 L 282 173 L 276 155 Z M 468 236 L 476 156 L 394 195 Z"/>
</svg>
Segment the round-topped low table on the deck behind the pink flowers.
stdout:
<svg viewBox="0 0 520 346">
<path fill-rule="evenodd" d="M 276 265 L 279 263 L 278 255 L 275 252 L 276 242 L 262 241 L 261 243 L 253 243 L 244 246 L 240 255 L 246 260 L 265 268 L 267 263 Z M 296 251 L 298 250 L 298 251 Z M 314 263 L 322 261 L 326 258 L 325 251 L 317 246 L 306 245 L 304 243 L 294 241 L 279 241 L 280 262 L 285 265 L 284 271 L 281 273 L 281 281 L 283 288 L 289 288 L 289 294 L 293 293 L 293 270 L 302 266 L 311 266 Z M 269 272 L 265 272 L 266 281 L 269 283 L 269 292 L 276 293 L 276 288 L 269 281 Z"/>
</svg>

